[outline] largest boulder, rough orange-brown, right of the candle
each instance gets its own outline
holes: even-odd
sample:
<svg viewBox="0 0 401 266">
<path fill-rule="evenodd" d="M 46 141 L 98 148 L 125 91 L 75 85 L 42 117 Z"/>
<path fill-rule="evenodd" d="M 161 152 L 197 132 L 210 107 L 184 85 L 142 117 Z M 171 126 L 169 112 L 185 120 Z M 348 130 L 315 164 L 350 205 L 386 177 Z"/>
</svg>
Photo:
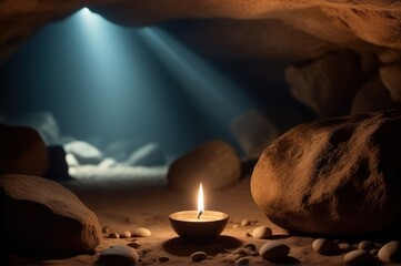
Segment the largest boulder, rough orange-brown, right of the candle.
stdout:
<svg viewBox="0 0 401 266">
<path fill-rule="evenodd" d="M 395 110 L 301 124 L 263 152 L 251 178 L 254 202 L 295 232 L 392 227 L 401 218 L 400 136 Z"/>
</svg>

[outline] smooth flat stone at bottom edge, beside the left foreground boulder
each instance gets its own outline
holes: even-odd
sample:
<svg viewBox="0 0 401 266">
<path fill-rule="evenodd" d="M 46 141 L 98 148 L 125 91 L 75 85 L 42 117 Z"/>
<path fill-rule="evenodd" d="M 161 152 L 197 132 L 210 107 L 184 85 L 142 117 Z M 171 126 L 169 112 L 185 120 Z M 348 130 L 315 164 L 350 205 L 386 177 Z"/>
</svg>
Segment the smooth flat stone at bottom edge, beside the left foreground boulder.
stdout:
<svg viewBox="0 0 401 266">
<path fill-rule="evenodd" d="M 114 245 L 100 253 L 99 263 L 106 265 L 138 265 L 139 255 L 133 248 Z"/>
</svg>

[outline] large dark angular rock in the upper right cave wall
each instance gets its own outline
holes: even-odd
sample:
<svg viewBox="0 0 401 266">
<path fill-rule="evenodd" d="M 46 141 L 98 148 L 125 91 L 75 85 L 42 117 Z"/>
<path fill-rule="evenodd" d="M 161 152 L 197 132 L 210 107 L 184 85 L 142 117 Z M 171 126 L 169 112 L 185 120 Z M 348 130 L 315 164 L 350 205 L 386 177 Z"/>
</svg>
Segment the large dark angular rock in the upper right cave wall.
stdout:
<svg viewBox="0 0 401 266">
<path fill-rule="evenodd" d="M 319 116 L 348 114 L 358 89 L 360 64 L 349 52 L 334 52 L 302 66 L 285 70 L 291 94 Z"/>
</svg>

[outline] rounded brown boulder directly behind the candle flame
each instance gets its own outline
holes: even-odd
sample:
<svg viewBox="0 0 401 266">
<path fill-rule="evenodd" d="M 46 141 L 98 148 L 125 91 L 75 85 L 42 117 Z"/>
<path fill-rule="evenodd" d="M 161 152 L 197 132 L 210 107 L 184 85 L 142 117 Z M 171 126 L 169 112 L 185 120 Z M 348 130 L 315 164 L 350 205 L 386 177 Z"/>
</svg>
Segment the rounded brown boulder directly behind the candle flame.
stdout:
<svg viewBox="0 0 401 266">
<path fill-rule="evenodd" d="M 234 149 L 219 140 L 207 142 L 177 158 L 168 172 L 168 185 L 190 191 L 202 182 L 208 190 L 228 186 L 241 176 L 241 162 Z"/>
</svg>

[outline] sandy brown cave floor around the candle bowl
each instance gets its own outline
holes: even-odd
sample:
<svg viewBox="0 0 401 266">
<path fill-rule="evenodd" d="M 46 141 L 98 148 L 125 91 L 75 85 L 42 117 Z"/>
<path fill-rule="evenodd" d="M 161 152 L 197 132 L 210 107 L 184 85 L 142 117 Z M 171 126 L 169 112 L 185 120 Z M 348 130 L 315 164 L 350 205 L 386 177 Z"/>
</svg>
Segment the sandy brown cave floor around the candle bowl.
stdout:
<svg viewBox="0 0 401 266">
<path fill-rule="evenodd" d="M 293 236 L 272 224 L 255 206 L 249 190 L 250 178 L 221 191 L 210 192 L 204 187 L 205 208 L 228 213 L 229 224 L 222 236 L 215 239 L 224 245 L 225 250 L 211 255 L 201 262 L 202 265 L 233 265 L 233 252 L 247 244 L 254 244 L 258 248 L 267 242 L 282 242 L 291 247 L 289 257 L 280 264 L 342 264 L 343 255 L 323 256 L 313 252 L 311 243 L 314 238 Z M 197 208 L 197 191 L 188 193 L 177 192 L 166 186 L 139 186 L 130 182 L 96 182 L 64 184 L 72 190 L 99 217 L 101 226 L 109 226 L 121 233 L 133 231 L 136 227 L 147 227 L 152 232 L 150 237 L 134 237 L 111 239 L 104 237 L 96 253 L 78 255 L 68 258 L 42 260 L 44 265 L 88 265 L 96 264 L 99 253 L 116 244 L 129 244 L 136 241 L 140 246 L 140 264 L 188 265 L 192 263 L 192 252 L 204 250 L 207 244 L 184 243 L 172 231 L 169 214 Z M 242 219 L 258 221 L 257 225 L 238 226 Z M 273 231 L 271 239 L 255 239 L 247 236 L 259 225 L 268 225 Z M 357 244 L 354 244 L 357 245 Z M 160 263 L 160 257 L 169 257 L 169 262 Z M 270 265 L 260 256 L 248 256 L 250 265 Z M 22 260 L 23 263 L 23 260 Z"/>
</svg>

